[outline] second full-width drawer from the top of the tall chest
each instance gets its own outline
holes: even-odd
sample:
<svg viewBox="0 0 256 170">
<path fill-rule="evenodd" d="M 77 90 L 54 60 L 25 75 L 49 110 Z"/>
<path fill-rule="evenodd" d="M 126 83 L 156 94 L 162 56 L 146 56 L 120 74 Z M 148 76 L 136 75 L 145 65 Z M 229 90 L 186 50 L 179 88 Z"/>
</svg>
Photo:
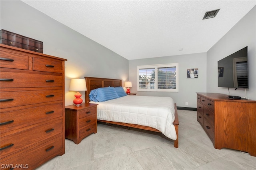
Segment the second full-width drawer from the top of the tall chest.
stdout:
<svg viewBox="0 0 256 170">
<path fill-rule="evenodd" d="M 1 92 L 0 108 L 63 100 L 62 90 Z"/>
</svg>

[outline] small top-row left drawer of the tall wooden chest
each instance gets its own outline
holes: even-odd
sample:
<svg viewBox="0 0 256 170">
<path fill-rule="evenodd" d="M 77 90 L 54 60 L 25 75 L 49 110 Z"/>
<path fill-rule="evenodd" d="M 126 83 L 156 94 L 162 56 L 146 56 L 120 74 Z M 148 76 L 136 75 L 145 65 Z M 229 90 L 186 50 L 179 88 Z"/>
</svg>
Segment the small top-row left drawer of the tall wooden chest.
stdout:
<svg viewBox="0 0 256 170">
<path fill-rule="evenodd" d="M 28 55 L 0 51 L 0 67 L 28 70 Z"/>
</svg>

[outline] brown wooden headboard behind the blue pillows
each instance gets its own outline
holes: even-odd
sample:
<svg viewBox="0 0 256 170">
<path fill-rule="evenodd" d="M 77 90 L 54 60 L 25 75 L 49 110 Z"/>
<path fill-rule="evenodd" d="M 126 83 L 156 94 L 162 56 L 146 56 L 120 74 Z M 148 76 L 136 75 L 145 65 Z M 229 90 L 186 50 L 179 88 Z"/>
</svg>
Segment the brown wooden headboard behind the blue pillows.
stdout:
<svg viewBox="0 0 256 170">
<path fill-rule="evenodd" d="M 86 81 L 86 88 L 87 91 L 85 91 L 85 102 L 89 103 L 89 94 L 91 90 L 94 90 L 96 88 L 100 87 L 119 87 L 122 86 L 122 80 L 119 79 L 110 79 L 110 78 L 97 78 L 97 77 L 84 77 Z"/>
</svg>

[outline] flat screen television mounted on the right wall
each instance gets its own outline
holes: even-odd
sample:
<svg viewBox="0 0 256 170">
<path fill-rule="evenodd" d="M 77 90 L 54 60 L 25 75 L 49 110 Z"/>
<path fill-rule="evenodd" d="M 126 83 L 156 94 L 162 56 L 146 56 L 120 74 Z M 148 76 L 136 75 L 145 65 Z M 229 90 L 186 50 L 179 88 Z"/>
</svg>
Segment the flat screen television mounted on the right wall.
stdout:
<svg viewBox="0 0 256 170">
<path fill-rule="evenodd" d="M 218 87 L 249 88 L 248 46 L 218 61 Z"/>
</svg>

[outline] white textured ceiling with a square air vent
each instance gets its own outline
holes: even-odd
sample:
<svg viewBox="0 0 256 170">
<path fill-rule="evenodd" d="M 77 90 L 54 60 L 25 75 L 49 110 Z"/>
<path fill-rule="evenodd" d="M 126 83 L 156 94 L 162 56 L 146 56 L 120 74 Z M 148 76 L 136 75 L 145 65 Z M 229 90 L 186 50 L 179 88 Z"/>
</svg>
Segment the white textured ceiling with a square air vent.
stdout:
<svg viewBox="0 0 256 170">
<path fill-rule="evenodd" d="M 255 0 L 22 1 L 128 60 L 207 52 L 256 5 Z M 216 9 L 215 18 L 202 20 Z"/>
</svg>

